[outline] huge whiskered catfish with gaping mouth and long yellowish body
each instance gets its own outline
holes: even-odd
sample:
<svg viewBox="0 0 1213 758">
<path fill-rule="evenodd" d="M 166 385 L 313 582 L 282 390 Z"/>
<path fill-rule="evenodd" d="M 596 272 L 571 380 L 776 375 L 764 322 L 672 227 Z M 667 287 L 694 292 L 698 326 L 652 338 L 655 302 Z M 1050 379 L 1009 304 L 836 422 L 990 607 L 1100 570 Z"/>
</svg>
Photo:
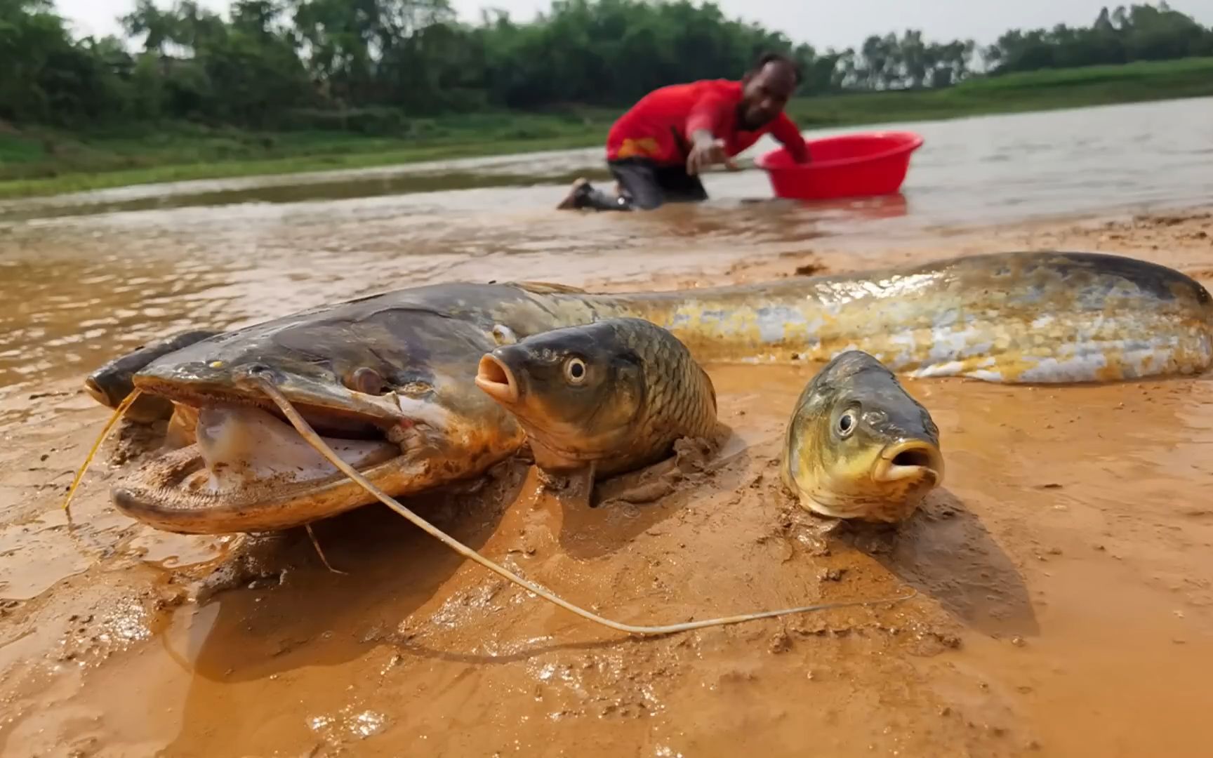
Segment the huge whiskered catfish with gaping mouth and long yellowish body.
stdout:
<svg viewBox="0 0 1213 758">
<path fill-rule="evenodd" d="M 410 287 L 195 342 L 132 382 L 178 410 L 277 417 L 250 382 L 268 370 L 330 441 L 395 445 L 399 455 L 377 452 L 360 471 L 400 496 L 480 474 L 523 444 L 517 418 L 475 386 L 485 353 L 613 318 L 662 326 L 700 361 L 826 361 L 861 349 L 899 374 L 1004 383 L 1196 374 L 1213 361 L 1209 293 L 1179 272 L 1099 253 L 1009 252 L 679 292 Z M 267 421 L 232 412 L 222 423 L 261 434 Z M 119 483 L 114 500 L 135 518 L 189 532 L 281 529 L 371 501 L 336 471 L 290 461 L 245 466 L 277 473 L 221 491 L 205 475 L 216 462 L 224 463 L 204 461 L 197 444 L 164 452 Z"/>
</svg>

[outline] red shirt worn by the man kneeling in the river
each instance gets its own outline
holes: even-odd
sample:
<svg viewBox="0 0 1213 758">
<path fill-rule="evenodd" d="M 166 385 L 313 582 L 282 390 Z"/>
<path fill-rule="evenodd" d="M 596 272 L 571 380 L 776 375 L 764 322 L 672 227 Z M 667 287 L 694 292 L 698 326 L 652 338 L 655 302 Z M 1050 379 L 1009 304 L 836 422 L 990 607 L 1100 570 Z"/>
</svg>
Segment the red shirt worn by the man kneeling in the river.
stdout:
<svg viewBox="0 0 1213 758">
<path fill-rule="evenodd" d="M 705 79 L 649 92 L 611 126 L 606 160 L 649 158 L 659 164 L 687 163 L 691 132 L 700 129 L 723 139 L 730 158 L 769 132 L 793 156 L 808 160 L 801 130 L 785 113 L 756 131 L 738 130 L 741 91 L 740 81 Z"/>
</svg>

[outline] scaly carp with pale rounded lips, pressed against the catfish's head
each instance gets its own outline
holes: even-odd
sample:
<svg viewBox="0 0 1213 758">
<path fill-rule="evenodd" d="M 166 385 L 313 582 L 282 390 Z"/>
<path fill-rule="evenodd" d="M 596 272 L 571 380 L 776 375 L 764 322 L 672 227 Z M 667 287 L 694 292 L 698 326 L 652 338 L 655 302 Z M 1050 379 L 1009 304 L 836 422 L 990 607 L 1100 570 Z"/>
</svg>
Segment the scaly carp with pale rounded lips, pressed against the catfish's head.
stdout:
<svg viewBox="0 0 1213 758">
<path fill-rule="evenodd" d="M 611 318 L 526 337 L 486 353 L 477 386 L 523 426 L 535 463 L 599 477 L 711 438 L 716 391 L 690 350 L 643 319 Z"/>
</svg>

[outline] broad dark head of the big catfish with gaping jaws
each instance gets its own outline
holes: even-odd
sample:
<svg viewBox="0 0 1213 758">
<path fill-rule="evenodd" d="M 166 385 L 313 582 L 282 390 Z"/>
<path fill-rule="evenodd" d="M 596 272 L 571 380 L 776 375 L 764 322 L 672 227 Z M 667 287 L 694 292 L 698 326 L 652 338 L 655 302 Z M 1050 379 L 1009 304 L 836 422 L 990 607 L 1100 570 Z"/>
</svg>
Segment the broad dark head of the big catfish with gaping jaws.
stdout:
<svg viewBox="0 0 1213 758">
<path fill-rule="evenodd" d="M 475 388 L 495 346 L 475 320 L 354 301 L 217 335 L 152 361 L 133 387 L 173 404 L 175 450 L 113 491 L 166 531 L 286 529 L 375 498 L 308 445 L 268 378 L 349 465 L 393 496 L 474 477 L 524 433 Z"/>
</svg>

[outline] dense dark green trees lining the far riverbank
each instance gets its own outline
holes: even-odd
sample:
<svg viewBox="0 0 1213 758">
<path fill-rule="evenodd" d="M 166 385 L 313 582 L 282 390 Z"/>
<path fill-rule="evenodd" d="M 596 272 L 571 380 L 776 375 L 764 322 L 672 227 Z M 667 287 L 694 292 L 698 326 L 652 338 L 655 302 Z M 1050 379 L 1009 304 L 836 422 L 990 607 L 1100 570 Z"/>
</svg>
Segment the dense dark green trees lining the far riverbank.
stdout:
<svg viewBox="0 0 1213 758">
<path fill-rule="evenodd" d="M 623 106 L 739 76 L 768 50 L 799 62 L 803 95 L 1213 55 L 1213 28 L 1166 2 L 1105 8 L 1087 28 L 1010 30 L 983 50 L 906 30 L 818 51 L 687 0 L 556 0 L 533 22 L 485 11 L 475 24 L 448 0 L 239 0 L 227 17 L 137 0 L 121 23 L 125 39 L 73 39 L 51 0 L 0 0 L 0 119 L 383 131 L 409 116 Z"/>
</svg>

